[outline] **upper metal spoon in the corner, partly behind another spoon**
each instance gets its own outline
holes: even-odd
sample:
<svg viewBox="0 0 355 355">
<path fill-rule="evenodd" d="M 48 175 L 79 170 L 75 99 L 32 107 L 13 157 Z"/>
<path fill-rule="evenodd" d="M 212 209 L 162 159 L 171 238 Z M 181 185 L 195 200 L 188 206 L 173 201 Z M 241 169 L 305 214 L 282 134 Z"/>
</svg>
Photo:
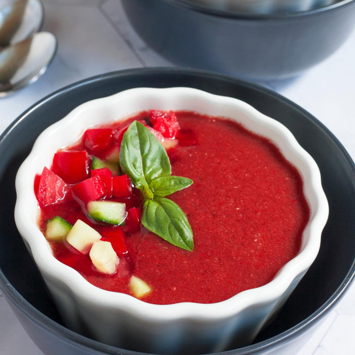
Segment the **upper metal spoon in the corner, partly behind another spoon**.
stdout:
<svg viewBox="0 0 355 355">
<path fill-rule="evenodd" d="M 0 48 L 21 42 L 42 27 L 44 9 L 40 0 L 12 1 L 6 6 L 1 6 L 2 2 L 0 0 Z"/>
</svg>

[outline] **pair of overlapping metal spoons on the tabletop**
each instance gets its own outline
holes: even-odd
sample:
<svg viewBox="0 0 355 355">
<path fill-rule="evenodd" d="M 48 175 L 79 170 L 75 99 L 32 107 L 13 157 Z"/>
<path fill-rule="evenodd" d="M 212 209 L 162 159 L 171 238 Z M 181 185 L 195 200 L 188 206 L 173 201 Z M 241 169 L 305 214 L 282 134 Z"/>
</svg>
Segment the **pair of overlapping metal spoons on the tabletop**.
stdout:
<svg viewBox="0 0 355 355">
<path fill-rule="evenodd" d="M 56 52 L 40 0 L 0 0 L 0 97 L 36 81 Z"/>
</svg>

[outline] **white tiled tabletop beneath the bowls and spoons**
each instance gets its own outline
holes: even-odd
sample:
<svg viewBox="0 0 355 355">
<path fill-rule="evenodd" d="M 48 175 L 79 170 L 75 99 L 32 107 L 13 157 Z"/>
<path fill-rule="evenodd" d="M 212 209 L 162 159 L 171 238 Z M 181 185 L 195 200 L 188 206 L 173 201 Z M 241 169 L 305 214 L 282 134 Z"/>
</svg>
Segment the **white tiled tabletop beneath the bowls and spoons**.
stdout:
<svg viewBox="0 0 355 355">
<path fill-rule="evenodd" d="M 168 66 L 133 32 L 119 0 L 44 0 L 44 30 L 58 53 L 36 83 L 0 99 L 0 132 L 30 105 L 56 89 L 107 71 Z M 337 53 L 304 75 L 262 82 L 322 121 L 355 158 L 355 32 Z M 297 355 L 355 354 L 355 285 Z M 42 355 L 0 295 L 1 355 Z"/>
</svg>

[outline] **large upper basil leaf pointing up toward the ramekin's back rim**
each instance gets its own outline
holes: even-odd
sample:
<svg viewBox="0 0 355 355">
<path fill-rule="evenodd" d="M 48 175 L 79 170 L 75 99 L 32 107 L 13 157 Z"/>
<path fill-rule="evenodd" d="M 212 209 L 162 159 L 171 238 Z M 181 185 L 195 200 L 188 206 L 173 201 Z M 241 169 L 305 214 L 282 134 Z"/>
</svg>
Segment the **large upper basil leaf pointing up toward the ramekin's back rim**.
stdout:
<svg viewBox="0 0 355 355">
<path fill-rule="evenodd" d="M 123 136 L 120 165 L 138 188 L 143 185 L 149 189 L 153 179 L 171 175 L 171 166 L 164 147 L 138 121 L 133 121 Z"/>
</svg>

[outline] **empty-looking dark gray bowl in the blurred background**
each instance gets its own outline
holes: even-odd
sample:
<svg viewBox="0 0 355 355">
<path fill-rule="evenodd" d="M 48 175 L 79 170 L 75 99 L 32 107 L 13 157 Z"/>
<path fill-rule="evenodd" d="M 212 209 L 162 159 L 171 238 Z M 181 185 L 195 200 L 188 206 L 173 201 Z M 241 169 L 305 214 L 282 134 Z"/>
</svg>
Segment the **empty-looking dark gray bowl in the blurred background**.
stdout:
<svg viewBox="0 0 355 355">
<path fill-rule="evenodd" d="M 326 59 L 355 26 L 355 0 L 256 15 L 184 0 L 122 0 L 142 39 L 171 62 L 254 79 L 294 76 Z"/>
</svg>

